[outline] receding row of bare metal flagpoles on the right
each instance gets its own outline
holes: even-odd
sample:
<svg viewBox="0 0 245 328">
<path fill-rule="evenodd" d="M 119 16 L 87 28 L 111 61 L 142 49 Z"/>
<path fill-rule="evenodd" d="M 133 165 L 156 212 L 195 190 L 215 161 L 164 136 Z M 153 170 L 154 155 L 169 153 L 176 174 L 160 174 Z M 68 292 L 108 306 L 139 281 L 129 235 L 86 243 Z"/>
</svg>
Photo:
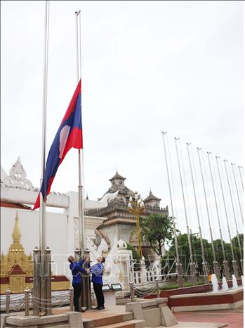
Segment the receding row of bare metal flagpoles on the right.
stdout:
<svg viewBox="0 0 245 328">
<path fill-rule="evenodd" d="M 176 244 L 176 262 L 177 262 L 177 270 L 178 272 L 182 272 L 182 263 L 180 263 L 180 254 L 178 250 L 178 239 L 177 239 L 177 234 L 176 234 L 176 220 L 179 222 L 180 225 L 180 220 L 182 217 L 185 217 L 185 223 L 186 223 L 186 229 L 187 229 L 187 239 L 188 239 L 188 246 L 190 250 L 190 275 L 193 277 L 193 282 L 194 284 L 197 283 L 197 277 L 195 273 L 195 263 L 194 263 L 194 258 L 193 258 L 193 250 L 192 250 L 192 243 L 191 243 L 191 232 L 190 232 L 190 219 L 191 217 L 195 217 L 195 223 L 198 226 L 199 229 L 199 238 L 201 242 L 201 256 L 203 259 L 202 262 L 202 267 L 204 271 L 204 277 L 207 281 L 207 275 L 208 275 L 208 267 L 206 263 L 206 257 L 205 257 L 205 252 L 204 252 L 204 243 L 203 243 L 203 234 L 202 234 L 202 229 L 204 228 L 204 222 L 201 224 L 200 220 L 200 209 L 205 211 L 205 214 L 202 215 L 202 217 L 205 219 L 205 225 L 207 223 L 208 225 L 208 235 L 209 239 L 211 241 L 211 248 L 212 248 L 212 253 L 213 253 L 213 272 L 216 274 L 217 277 L 220 277 L 220 269 L 218 266 L 218 262 L 216 259 L 216 250 L 214 247 L 213 243 L 213 229 L 218 226 L 218 231 L 219 231 L 219 237 L 221 241 L 221 247 L 222 247 L 222 253 L 223 253 L 223 267 L 224 267 L 224 272 L 225 272 L 225 277 L 227 279 L 230 279 L 230 272 L 229 272 L 229 267 L 227 263 L 227 257 L 225 254 L 225 248 L 224 248 L 224 237 L 223 237 L 223 229 L 225 227 L 225 230 L 227 231 L 229 241 L 230 241 L 230 248 L 231 248 L 231 253 L 232 253 L 232 270 L 234 275 L 238 277 L 238 267 L 237 267 L 237 260 L 236 256 L 234 254 L 234 247 L 232 245 L 232 234 L 231 234 L 231 229 L 230 225 L 232 227 L 234 226 L 236 229 L 236 238 L 238 242 L 238 247 L 239 247 L 239 256 L 241 258 L 241 271 L 243 271 L 243 254 L 241 250 L 241 241 L 239 237 L 239 220 L 241 220 L 242 225 L 243 225 L 243 213 L 241 210 L 241 198 L 239 196 L 239 186 L 237 182 L 237 178 L 235 175 L 234 171 L 234 163 L 231 164 L 232 167 L 232 176 L 233 176 L 233 183 L 236 189 L 236 196 L 237 196 L 237 203 L 239 204 L 239 210 L 236 210 L 235 208 L 235 202 L 234 202 L 234 193 L 232 193 L 232 188 L 231 188 L 231 181 L 230 177 L 228 175 L 228 170 L 227 170 L 227 160 L 224 160 L 224 170 L 225 170 L 225 179 L 226 179 L 226 187 L 228 187 L 229 191 L 229 196 L 230 196 L 230 203 L 232 205 L 232 217 L 228 217 L 227 213 L 227 200 L 225 199 L 225 182 L 223 181 L 220 173 L 220 157 L 216 156 L 216 173 L 218 173 L 218 181 L 219 181 L 219 187 L 220 190 L 218 190 L 217 186 L 217 181 L 215 181 L 213 177 L 213 158 L 211 156 L 211 152 L 207 152 L 207 163 L 208 163 L 208 171 L 209 171 L 209 177 L 207 178 L 206 173 L 206 168 L 205 168 L 205 162 L 204 158 L 201 156 L 202 155 L 202 149 L 197 148 L 197 158 L 198 158 L 198 163 L 199 163 L 199 181 L 197 179 L 197 174 L 195 170 L 195 164 L 194 164 L 194 156 L 192 153 L 192 148 L 191 144 L 187 143 L 187 156 L 186 160 L 183 160 L 183 153 L 181 149 L 181 144 L 180 144 L 180 138 L 174 138 L 174 143 L 175 143 L 175 149 L 176 149 L 176 165 L 174 166 L 174 169 L 176 166 L 178 167 L 178 173 L 179 173 L 179 179 L 175 176 L 173 179 L 173 165 L 172 165 L 172 159 L 171 159 L 171 151 L 169 150 L 168 146 L 168 139 L 167 139 L 167 132 L 162 132 L 162 137 L 163 137 L 163 143 L 164 143 L 164 156 L 165 156 L 165 163 L 166 163 L 166 172 L 167 172 L 167 177 L 168 177 L 168 190 L 169 190 L 169 196 L 170 196 L 170 203 L 171 203 L 171 216 L 174 217 L 175 219 L 173 220 L 173 229 L 174 229 L 174 236 L 175 236 L 175 244 Z M 166 146 L 167 145 L 167 146 Z M 191 156 L 192 154 L 192 156 Z M 187 168 L 186 168 L 187 167 Z M 243 183 L 242 183 L 242 177 L 241 177 L 241 167 L 239 168 L 239 176 L 241 179 L 241 187 L 243 189 Z M 189 179 L 191 183 L 187 186 L 186 182 L 186 177 L 185 174 L 189 171 Z M 194 171 L 194 174 L 193 174 Z M 191 187 L 190 187 L 191 186 Z M 197 193 L 197 189 L 201 186 L 202 192 Z M 209 190 L 208 190 L 209 187 Z M 211 191 L 210 191 L 211 187 Z M 187 196 L 187 189 L 191 190 L 193 194 L 192 198 L 192 206 L 190 206 L 190 199 L 188 199 Z M 241 188 L 240 188 L 241 189 Z M 180 200 L 176 201 L 175 197 L 175 191 L 176 190 L 181 190 L 181 198 L 183 202 L 183 207 L 180 210 Z M 190 192 L 189 190 L 189 192 Z M 220 192 L 221 191 L 221 192 Z M 220 206 L 218 206 L 218 201 L 220 201 L 219 196 L 222 196 L 222 201 L 223 201 L 223 210 L 220 211 Z M 202 201 L 204 199 L 204 201 Z M 212 203 L 214 201 L 214 208 L 216 215 L 213 215 L 213 206 Z M 194 206 L 193 206 L 194 203 Z M 220 205 L 220 204 L 219 204 Z M 192 215 L 190 214 L 190 207 L 192 207 Z M 181 217 L 178 217 L 177 208 L 179 208 L 179 212 L 181 212 Z M 193 214 L 194 213 L 194 214 Z M 220 218 L 223 219 L 225 217 L 225 220 L 220 220 Z M 225 221 L 225 224 L 224 224 Z M 216 224 L 218 223 L 218 225 Z M 193 222 L 192 222 L 193 224 Z M 202 227 L 201 227 L 202 226 Z M 179 278 L 179 284 L 183 285 L 182 278 Z"/>
</svg>

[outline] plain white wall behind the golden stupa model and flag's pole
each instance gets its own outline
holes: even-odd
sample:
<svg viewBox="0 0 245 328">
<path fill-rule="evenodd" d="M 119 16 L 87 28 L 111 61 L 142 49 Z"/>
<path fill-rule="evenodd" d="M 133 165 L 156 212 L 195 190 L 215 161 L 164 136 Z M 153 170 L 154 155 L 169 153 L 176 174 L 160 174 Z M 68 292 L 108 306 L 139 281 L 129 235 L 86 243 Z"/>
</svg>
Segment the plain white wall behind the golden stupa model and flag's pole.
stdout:
<svg viewBox="0 0 245 328">
<path fill-rule="evenodd" d="M 6 254 L 13 243 L 12 232 L 15 225 L 15 208 L 1 207 L 1 251 Z M 39 212 L 18 209 L 20 243 L 29 255 L 34 246 L 39 246 Z M 61 213 L 46 213 L 47 239 L 46 245 L 51 248 L 52 271 L 55 275 L 64 275 L 67 267 L 68 218 Z M 73 235 L 72 235 L 73 238 Z M 68 254 L 69 255 L 69 254 Z"/>
</svg>

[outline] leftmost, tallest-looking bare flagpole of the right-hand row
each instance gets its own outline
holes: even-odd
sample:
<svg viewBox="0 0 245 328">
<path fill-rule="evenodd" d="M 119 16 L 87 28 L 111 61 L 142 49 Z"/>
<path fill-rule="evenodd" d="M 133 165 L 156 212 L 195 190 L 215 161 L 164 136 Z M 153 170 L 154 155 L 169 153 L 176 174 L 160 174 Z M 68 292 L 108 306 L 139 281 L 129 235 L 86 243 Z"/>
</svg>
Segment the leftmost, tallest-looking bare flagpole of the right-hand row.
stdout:
<svg viewBox="0 0 245 328">
<path fill-rule="evenodd" d="M 167 132 L 161 132 L 163 141 L 164 141 L 164 135 L 166 133 Z M 171 211 L 172 211 L 172 217 L 173 217 L 174 242 L 176 244 L 176 258 L 177 258 L 176 269 L 178 272 L 178 285 L 181 288 L 181 287 L 183 287 L 183 273 L 182 273 L 182 264 L 180 263 L 180 256 L 178 253 L 178 238 L 177 238 L 177 234 L 176 234 L 176 222 L 175 222 L 175 217 L 174 217 L 174 213 L 173 213 L 173 199 L 172 199 L 171 184 L 170 184 L 169 172 L 168 172 L 168 160 L 167 160 L 167 156 L 166 156 L 165 141 L 164 141 L 164 155 L 165 155 L 166 170 L 167 170 L 167 175 L 168 175 L 168 190 L 169 190 L 169 196 L 170 196 Z"/>
</svg>

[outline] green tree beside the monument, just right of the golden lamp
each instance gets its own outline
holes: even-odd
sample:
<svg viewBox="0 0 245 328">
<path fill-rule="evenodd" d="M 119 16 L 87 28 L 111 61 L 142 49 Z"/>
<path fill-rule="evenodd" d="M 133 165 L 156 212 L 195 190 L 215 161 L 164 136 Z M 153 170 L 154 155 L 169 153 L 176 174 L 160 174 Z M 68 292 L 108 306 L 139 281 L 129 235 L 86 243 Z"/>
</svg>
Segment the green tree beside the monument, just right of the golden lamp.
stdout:
<svg viewBox="0 0 245 328">
<path fill-rule="evenodd" d="M 173 219 L 165 214 L 150 214 L 140 217 L 141 236 L 154 251 L 162 256 L 161 248 L 173 239 Z"/>
</svg>

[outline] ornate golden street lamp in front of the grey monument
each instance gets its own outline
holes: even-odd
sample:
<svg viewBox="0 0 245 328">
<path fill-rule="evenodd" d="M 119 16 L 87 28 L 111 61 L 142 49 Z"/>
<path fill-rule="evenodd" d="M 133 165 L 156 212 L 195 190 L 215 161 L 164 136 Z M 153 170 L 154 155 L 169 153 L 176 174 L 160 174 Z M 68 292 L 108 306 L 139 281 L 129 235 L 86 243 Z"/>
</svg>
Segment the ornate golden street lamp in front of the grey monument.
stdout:
<svg viewBox="0 0 245 328">
<path fill-rule="evenodd" d="M 141 247 L 141 236 L 140 236 L 140 214 L 145 210 L 145 204 L 140 198 L 138 191 L 135 191 L 134 201 L 133 198 L 129 198 L 128 202 L 128 211 L 135 215 L 136 219 L 136 230 L 137 230 L 137 239 L 138 239 L 138 252 L 140 253 L 140 260 L 142 259 L 142 247 Z"/>
</svg>

